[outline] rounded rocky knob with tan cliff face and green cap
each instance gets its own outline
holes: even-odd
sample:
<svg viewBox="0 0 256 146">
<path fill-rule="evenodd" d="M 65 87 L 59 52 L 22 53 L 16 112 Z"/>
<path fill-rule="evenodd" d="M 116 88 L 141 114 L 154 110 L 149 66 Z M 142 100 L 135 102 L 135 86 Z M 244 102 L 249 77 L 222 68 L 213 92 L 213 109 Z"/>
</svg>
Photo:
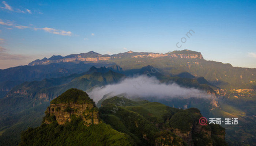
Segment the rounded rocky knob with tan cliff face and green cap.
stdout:
<svg viewBox="0 0 256 146">
<path fill-rule="evenodd" d="M 98 109 L 85 92 L 69 89 L 63 94 L 54 99 L 45 111 L 44 123 L 50 124 L 56 120 L 58 124 L 63 125 L 71 122 L 72 116 L 76 116 L 81 118 L 86 126 L 99 124 Z"/>
</svg>

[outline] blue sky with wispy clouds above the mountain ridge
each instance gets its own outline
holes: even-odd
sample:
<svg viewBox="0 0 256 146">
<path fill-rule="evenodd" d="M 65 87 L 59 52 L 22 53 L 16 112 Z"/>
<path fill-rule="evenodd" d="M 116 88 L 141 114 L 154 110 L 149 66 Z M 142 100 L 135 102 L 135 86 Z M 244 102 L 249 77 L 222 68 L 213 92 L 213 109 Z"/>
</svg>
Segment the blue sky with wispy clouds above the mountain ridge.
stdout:
<svg viewBox="0 0 256 146">
<path fill-rule="evenodd" d="M 184 49 L 256 68 L 255 14 L 256 1 L 0 1 L 0 68 L 91 50 Z"/>
</svg>

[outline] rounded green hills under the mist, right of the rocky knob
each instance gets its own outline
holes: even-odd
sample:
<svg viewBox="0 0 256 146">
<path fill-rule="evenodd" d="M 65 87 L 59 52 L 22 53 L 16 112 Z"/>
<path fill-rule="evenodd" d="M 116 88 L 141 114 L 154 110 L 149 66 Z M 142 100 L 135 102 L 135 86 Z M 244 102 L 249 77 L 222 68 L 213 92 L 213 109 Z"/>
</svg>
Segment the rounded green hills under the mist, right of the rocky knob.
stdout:
<svg viewBox="0 0 256 146">
<path fill-rule="evenodd" d="M 115 105 L 118 105 L 120 101 L 125 101 L 125 104 L 117 106 L 118 109 L 116 109 Z M 186 145 L 186 141 L 172 133 L 171 129 L 177 128 L 181 131 L 181 134 L 193 131 L 193 127 L 196 126 L 196 123 L 198 124 L 199 118 L 202 117 L 200 111 L 196 108 L 179 110 L 157 102 L 136 102 L 123 97 L 106 99 L 102 102 L 102 105 L 103 107 L 99 108 L 101 119 L 117 131 L 132 137 L 138 145 L 154 145 L 157 142 L 161 144 L 168 143 L 169 145 Z M 116 109 L 115 112 L 113 112 L 113 109 Z M 211 130 L 210 126 L 204 126 L 203 128 L 206 131 Z M 216 135 L 218 135 L 218 130 L 225 131 L 223 128 L 218 129 L 217 127 Z M 193 135 L 191 139 L 193 143 L 204 143 L 206 145 L 214 142 L 213 145 L 218 146 L 221 141 L 218 137 L 211 135 L 209 135 L 211 138 L 205 138 L 207 137 L 205 133 Z M 172 137 L 172 140 L 170 140 L 170 137 Z M 145 139 L 148 140 L 145 141 Z M 221 141 L 223 145 L 226 145 L 223 141 Z"/>
</svg>

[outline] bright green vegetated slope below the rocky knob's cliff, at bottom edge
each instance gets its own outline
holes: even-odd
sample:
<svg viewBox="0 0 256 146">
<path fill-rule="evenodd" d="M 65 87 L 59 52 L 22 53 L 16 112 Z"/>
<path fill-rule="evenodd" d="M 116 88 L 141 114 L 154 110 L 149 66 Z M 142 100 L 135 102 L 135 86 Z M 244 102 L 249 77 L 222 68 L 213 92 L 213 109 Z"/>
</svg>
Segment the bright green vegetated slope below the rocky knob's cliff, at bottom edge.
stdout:
<svg viewBox="0 0 256 146">
<path fill-rule="evenodd" d="M 42 124 L 22 133 L 19 146 L 132 146 L 132 139 L 105 123 L 86 127 L 82 120 L 72 119 L 64 126 Z"/>
</svg>

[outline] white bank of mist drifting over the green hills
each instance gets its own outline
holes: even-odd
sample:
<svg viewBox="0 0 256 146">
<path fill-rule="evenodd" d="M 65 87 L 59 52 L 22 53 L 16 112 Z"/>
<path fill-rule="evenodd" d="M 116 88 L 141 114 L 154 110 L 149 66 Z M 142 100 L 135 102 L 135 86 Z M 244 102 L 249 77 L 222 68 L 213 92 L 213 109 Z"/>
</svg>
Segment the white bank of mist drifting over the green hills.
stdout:
<svg viewBox="0 0 256 146">
<path fill-rule="evenodd" d="M 206 91 L 201 91 L 195 88 L 180 87 L 176 83 L 161 83 L 155 77 L 137 76 L 128 77 L 118 82 L 117 84 L 109 84 L 103 87 L 96 87 L 92 91 L 87 92 L 90 98 L 95 103 L 98 103 L 104 95 L 114 97 L 124 94 L 126 97 L 154 97 L 158 99 L 163 98 L 210 98 L 212 95 L 207 94 Z"/>
</svg>

